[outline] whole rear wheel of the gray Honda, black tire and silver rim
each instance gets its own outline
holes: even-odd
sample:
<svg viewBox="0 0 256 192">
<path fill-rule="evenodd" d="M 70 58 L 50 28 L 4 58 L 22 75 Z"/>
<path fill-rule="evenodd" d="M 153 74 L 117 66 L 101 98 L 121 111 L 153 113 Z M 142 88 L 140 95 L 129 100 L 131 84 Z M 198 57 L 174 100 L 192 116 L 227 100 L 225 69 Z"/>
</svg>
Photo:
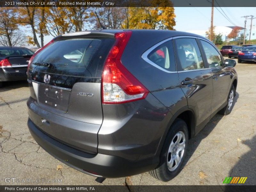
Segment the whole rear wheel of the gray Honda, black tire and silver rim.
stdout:
<svg viewBox="0 0 256 192">
<path fill-rule="evenodd" d="M 187 124 L 181 119 L 176 119 L 164 141 L 159 165 L 156 169 L 149 171 L 150 175 L 164 182 L 174 178 L 181 170 L 187 146 Z"/>
</svg>

